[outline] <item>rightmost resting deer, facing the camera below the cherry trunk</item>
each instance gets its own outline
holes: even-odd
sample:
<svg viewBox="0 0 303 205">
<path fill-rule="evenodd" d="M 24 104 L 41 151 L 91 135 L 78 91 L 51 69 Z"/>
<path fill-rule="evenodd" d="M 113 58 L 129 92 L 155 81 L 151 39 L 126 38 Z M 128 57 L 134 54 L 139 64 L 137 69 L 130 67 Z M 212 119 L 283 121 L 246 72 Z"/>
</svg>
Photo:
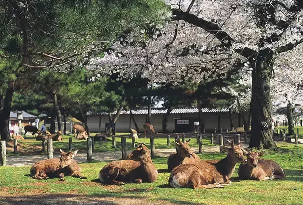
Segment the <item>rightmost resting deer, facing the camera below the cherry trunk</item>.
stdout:
<svg viewBox="0 0 303 205">
<path fill-rule="evenodd" d="M 259 159 L 265 153 L 264 150 L 259 152 L 249 152 L 247 163 L 240 164 L 238 174 L 241 180 L 270 180 L 284 179 L 285 174 L 281 166 L 273 160 Z"/>
</svg>

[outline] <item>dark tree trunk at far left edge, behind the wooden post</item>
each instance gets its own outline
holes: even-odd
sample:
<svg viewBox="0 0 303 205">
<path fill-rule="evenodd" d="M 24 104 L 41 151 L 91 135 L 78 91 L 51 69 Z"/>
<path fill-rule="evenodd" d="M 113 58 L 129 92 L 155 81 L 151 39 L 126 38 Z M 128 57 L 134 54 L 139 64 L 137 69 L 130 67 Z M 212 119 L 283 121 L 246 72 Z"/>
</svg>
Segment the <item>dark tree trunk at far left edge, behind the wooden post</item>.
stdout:
<svg viewBox="0 0 303 205">
<path fill-rule="evenodd" d="M 0 101 L 0 134 L 1 139 L 8 141 L 10 139 L 10 132 L 9 132 L 9 117 L 10 117 L 10 110 L 11 110 L 11 102 L 13 99 L 14 94 L 14 87 L 15 81 L 11 81 L 8 84 L 8 88 L 6 90 L 5 99 L 3 101 L 3 96 L 1 97 Z M 3 106 L 2 106 L 3 105 Z M 2 108 L 2 111 L 1 111 Z"/>
</svg>

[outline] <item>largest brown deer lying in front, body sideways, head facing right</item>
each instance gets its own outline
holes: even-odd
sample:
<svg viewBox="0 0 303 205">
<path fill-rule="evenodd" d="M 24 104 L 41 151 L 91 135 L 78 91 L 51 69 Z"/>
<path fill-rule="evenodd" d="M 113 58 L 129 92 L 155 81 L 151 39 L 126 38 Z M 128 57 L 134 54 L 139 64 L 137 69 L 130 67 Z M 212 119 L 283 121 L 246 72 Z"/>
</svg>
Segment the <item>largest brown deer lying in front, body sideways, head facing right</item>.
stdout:
<svg viewBox="0 0 303 205">
<path fill-rule="evenodd" d="M 234 145 L 233 141 L 227 140 L 231 148 L 221 146 L 228 152 L 221 160 L 201 160 L 195 164 L 181 164 L 175 167 L 169 178 L 169 185 L 173 188 L 210 189 L 222 188 L 232 182 L 229 177 L 233 174 L 237 163 L 246 163 L 241 142 Z"/>
</svg>

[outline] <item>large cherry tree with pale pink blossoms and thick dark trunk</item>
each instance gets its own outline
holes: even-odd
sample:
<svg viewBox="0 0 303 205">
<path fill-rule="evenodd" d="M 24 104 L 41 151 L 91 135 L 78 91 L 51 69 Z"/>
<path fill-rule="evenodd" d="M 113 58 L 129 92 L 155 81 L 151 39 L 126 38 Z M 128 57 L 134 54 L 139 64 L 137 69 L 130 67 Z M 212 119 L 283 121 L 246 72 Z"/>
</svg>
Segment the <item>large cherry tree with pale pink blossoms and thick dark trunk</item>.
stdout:
<svg viewBox="0 0 303 205">
<path fill-rule="evenodd" d="M 274 148 L 270 80 L 276 59 L 303 42 L 301 0 L 166 0 L 172 17 L 163 28 L 120 37 L 88 69 L 140 74 L 150 83 L 224 78 L 243 64 L 252 70 L 250 147 Z M 297 59 L 292 59 L 297 60 Z M 245 66 L 246 65 L 246 66 Z M 287 68 L 288 69 L 288 68 Z M 297 69 L 297 68 L 295 68 Z M 289 69 L 288 69 L 289 70 Z"/>
</svg>

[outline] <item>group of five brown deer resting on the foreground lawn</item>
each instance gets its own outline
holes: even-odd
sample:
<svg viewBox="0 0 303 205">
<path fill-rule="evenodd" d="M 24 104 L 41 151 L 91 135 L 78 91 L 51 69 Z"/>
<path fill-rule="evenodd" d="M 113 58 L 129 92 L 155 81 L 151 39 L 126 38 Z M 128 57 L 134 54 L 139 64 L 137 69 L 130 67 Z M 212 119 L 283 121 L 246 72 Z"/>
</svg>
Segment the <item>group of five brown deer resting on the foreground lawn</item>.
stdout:
<svg viewBox="0 0 303 205">
<path fill-rule="evenodd" d="M 222 188 L 230 185 L 229 178 L 232 176 L 236 164 L 239 167 L 241 180 L 269 180 L 284 179 L 285 174 L 281 166 L 273 160 L 259 159 L 264 151 L 250 152 L 241 148 L 241 142 L 235 145 L 228 141 L 230 147 L 221 146 L 221 150 L 227 156 L 221 160 L 201 160 L 198 155 L 191 151 L 189 140 L 182 143 L 176 139 L 176 153 L 169 156 L 167 165 L 171 172 L 168 183 L 173 188 L 209 189 Z M 30 175 L 35 179 L 47 177 L 74 176 L 81 179 L 81 168 L 72 159 L 77 151 L 65 153 L 60 149 L 60 159 L 48 159 L 36 162 L 30 170 Z M 247 159 L 246 159 L 247 158 Z M 113 161 L 105 165 L 99 172 L 99 180 L 105 184 L 122 185 L 125 183 L 155 182 L 158 171 L 152 162 L 149 149 L 144 143 L 139 143 L 125 160 Z"/>
</svg>

